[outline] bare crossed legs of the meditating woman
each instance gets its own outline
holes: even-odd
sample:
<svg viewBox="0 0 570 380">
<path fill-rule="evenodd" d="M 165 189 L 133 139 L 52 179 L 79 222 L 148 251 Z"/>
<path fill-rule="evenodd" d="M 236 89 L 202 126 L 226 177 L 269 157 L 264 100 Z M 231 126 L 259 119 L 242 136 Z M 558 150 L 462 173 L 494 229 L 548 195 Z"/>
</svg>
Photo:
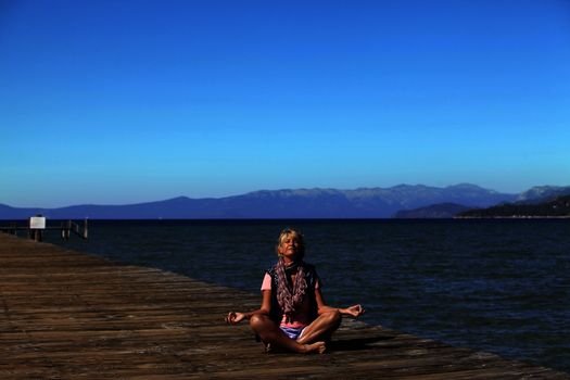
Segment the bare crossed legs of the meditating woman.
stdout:
<svg viewBox="0 0 570 380">
<path fill-rule="evenodd" d="M 253 315 L 250 319 L 252 330 L 267 345 L 296 352 L 296 353 L 324 353 L 326 340 L 337 330 L 342 317 L 338 311 L 327 312 L 318 316 L 308 325 L 303 334 L 295 341 L 279 328 L 279 326 L 266 315 Z"/>
</svg>

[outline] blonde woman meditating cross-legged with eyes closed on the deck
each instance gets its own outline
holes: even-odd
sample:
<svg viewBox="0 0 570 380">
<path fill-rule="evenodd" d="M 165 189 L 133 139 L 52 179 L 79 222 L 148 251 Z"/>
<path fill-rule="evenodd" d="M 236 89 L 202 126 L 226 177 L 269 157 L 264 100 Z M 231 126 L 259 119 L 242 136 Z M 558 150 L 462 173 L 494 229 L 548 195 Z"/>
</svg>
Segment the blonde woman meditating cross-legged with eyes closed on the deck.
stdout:
<svg viewBox="0 0 570 380">
<path fill-rule="evenodd" d="M 325 342 L 339 328 L 342 315 L 358 317 L 364 308 L 360 305 L 335 308 L 325 304 L 315 267 L 303 261 L 305 244 L 301 232 L 282 230 L 276 251 L 279 259 L 265 274 L 259 309 L 230 312 L 226 322 L 237 325 L 249 319 L 266 350 L 324 353 Z"/>
</svg>

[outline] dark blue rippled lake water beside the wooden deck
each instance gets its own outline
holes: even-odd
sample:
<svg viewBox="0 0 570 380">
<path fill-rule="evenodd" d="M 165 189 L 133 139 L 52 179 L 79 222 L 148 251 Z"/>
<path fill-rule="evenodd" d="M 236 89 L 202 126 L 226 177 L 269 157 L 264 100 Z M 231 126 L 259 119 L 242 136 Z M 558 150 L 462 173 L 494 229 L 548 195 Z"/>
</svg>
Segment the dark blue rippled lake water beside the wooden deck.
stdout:
<svg viewBox="0 0 570 380">
<path fill-rule="evenodd" d="M 87 242 L 47 240 L 257 293 L 286 226 L 304 232 L 329 304 L 570 371 L 570 220 L 93 220 Z"/>
</svg>

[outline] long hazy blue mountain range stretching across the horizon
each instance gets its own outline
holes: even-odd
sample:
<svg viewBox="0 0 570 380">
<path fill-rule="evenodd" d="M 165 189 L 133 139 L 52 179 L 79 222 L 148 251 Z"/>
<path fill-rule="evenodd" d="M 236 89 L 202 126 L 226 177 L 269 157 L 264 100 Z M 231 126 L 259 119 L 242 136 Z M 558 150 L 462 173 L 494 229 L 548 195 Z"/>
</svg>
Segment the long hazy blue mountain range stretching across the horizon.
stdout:
<svg viewBox="0 0 570 380">
<path fill-rule="evenodd" d="M 514 202 L 517 194 L 461 183 L 446 188 L 400 185 L 392 188 L 261 190 L 227 198 L 190 199 L 129 205 L 75 205 L 16 208 L 0 205 L 0 219 L 41 214 L 52 219 L 211 219 L 211 218 L 387 218 L 401 210 L 438 203 L 487 207 Z"/>
</svg>

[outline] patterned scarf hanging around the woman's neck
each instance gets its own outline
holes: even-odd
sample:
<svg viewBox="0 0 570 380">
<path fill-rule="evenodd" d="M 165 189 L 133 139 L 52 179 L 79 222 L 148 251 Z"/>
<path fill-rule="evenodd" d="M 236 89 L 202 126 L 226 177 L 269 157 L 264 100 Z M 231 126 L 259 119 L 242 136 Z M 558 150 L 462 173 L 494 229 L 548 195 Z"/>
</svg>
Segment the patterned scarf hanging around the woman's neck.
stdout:
<svg viewBox="0 0 570 380">
<path fill-rule="evenodd" d="M 287 279 L 287 271 L 292 271 L 296 268 L 295 283 L 291 289 L 290 281 Z M 289 268 L 286 268 L 284 261 L 279 258 L 275 266 L 277 274 L 277 302 L 283 311 L 287 320 L 291 320 L 291 316 L 295 313 L 297 307 L 303 304 L 305 293 L 307 290 L 307 280 L 305 278 L 305 263 L 293 263 Z"/>
</svg>

